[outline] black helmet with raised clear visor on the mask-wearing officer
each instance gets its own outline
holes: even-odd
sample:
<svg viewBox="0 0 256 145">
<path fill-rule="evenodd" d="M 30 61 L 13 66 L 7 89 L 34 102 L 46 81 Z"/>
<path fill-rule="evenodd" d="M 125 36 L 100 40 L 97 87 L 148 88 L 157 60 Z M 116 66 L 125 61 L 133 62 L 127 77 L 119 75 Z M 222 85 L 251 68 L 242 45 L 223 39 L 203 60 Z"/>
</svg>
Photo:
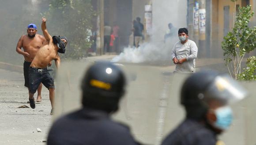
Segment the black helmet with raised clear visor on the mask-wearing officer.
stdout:
<svg viewBox="0 0 256 145">
<path fill-rule="evenodd" d="M 223 105 L 241 100 L 245 90 L 230 76 L 215 71 L 201 71 L 192 74 L 181 88 L 181 104 L 187 116 L 201 119 L 208 110 L 208 102 L 217 100 Z"/>
</svg>

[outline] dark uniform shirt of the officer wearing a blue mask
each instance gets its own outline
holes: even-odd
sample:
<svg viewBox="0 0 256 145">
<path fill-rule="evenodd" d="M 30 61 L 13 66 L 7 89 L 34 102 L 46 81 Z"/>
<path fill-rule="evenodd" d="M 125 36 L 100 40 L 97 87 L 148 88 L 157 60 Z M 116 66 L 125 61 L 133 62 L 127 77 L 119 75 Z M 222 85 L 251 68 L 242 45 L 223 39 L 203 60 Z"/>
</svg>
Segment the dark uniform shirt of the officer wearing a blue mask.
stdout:
<svg viewBox="0 0 256 145">
<path fill-rule="evenodd" d="M 216 134 L 195 120 L 184 120 L 162 145 L 216 145 Z"/>
</svg>

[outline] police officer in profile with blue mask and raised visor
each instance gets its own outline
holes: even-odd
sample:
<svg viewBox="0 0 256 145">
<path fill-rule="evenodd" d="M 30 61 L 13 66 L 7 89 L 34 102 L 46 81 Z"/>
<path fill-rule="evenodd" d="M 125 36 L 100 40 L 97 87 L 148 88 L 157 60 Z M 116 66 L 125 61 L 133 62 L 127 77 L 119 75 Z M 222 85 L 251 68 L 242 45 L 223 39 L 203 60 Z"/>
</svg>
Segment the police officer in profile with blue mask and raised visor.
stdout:
<svg viewBox="0 0 256 145">
<path fill-rule="evenodd" d="M 234 80 L 218 72 L 203 71 L 188 77 L 181 89 L 186 118 L 162 145 L 224 145 L 217 136 L 232 123 L 229 105 L 245 94 Z"/>
</svg>

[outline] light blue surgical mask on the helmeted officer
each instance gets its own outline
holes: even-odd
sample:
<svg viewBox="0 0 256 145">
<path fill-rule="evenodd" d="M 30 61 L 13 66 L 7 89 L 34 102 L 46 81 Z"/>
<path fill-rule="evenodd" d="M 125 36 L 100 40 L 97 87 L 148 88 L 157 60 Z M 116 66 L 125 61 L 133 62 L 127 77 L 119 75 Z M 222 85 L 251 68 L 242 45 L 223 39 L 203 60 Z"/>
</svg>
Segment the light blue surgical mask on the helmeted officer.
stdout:
<svg viewBox="0 0 256 145">
<path fill-rule="evenodd" d="M 215 127 L 221 130 L 226 130 L 228 127 L 230 127 L 233 121 L 233 113 L 232 109 L 229 106 L 216 109 L 215 115 L 217 117 L 217 120 L 214 123 Z"/>
</svg>

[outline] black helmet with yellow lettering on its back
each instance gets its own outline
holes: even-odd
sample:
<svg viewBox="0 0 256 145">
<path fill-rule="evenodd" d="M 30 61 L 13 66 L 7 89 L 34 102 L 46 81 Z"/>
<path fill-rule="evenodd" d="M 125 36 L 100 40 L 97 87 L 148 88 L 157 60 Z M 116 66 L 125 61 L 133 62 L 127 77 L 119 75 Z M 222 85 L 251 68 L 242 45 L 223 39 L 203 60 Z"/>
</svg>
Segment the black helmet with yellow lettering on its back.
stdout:
<svg viewBox="0 0 256 145">
<path fill-rule="evenodd" d="M 106 112 L 117 111 L 126 84 L 122 70 L 110 62 L 96 62 L 83 81 L 83 106 Z"/>
</svg>

